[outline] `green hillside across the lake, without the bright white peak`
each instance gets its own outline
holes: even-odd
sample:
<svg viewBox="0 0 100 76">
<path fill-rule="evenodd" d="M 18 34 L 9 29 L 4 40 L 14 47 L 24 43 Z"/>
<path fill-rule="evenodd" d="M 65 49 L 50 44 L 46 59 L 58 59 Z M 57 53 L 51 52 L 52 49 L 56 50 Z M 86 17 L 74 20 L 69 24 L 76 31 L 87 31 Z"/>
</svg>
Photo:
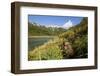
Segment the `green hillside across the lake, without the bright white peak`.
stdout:
<svg viewBox="0 0 100 76">
<path fill-rule="evenodd" d="M 55 36 L 65 31 L 63 28 L 45 27 L 37 23 L 28 23 L 29 36 Z"/>
</svg>

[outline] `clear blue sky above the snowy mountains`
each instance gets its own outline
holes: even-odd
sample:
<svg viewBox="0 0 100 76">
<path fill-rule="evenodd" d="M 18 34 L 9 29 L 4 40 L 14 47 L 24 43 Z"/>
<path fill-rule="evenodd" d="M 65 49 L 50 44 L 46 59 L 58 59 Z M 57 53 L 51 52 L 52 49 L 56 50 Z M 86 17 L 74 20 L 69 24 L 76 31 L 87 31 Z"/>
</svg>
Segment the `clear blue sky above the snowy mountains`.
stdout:
<svg viewBox="0 0 100 76">
<path fill-rule="evenodd" d="M 35 22 L 41 25 L 64 25 L 67 21 L 71 21 L 73 25 L 79 24 L 83 17 L 75 16 L 47 16 L 47 15 L 28 15 L 29 22 Z"/>
</svg>

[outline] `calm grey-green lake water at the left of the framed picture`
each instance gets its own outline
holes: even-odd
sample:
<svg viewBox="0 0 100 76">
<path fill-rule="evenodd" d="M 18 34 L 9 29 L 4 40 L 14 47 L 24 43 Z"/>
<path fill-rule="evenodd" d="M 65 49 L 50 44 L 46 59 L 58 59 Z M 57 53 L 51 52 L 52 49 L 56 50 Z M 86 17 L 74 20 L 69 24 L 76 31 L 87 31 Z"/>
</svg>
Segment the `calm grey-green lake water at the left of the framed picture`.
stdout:
<svg viewBox="0 0 100 76">
<path fill-rule="evenodd" d="M 54 37 L 42 37 L 42 36 L 28 38 L 28 50 L 30 51 L 35 47 L 43 45 L 45 42 L 53 38 Z"/>
</svg>

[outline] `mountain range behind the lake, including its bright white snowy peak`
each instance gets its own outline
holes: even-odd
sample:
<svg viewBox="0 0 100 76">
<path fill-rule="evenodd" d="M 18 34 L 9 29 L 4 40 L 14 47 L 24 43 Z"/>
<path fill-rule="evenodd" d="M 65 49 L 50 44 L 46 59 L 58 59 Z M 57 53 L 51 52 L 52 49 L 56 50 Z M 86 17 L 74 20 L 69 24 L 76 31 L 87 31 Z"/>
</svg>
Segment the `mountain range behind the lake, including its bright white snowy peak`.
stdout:
<svg viewBox="0 0 100 76">
<path fill-rule="evenodd" d="M 42 36 L 42 35 L 59 35 L 71 28 L 73 23 L 71 20 L 67 21 L 64 25 L 41 25 L 38 23 L 28 22 L 28 33 L 29 36 Z"/>
</svg>

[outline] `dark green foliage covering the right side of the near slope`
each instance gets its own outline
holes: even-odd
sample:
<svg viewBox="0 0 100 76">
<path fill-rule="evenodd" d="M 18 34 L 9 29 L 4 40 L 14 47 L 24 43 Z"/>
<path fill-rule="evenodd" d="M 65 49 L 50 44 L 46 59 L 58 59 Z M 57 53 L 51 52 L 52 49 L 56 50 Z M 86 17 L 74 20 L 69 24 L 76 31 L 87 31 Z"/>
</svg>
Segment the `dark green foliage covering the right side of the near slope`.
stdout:
<svg viewBox="0 0 100 76">
<path fill-rule="evenodd" d="M 70 42 L 73 49 L 71 58 L 86 58 L 88 53 L 88 26 L 87 18 L 84 18 L 76 27 L 70 28 L 67 32 L 59 35 Z M 65 57 L 68 58 L 68 57 Z"/>
</svg>

